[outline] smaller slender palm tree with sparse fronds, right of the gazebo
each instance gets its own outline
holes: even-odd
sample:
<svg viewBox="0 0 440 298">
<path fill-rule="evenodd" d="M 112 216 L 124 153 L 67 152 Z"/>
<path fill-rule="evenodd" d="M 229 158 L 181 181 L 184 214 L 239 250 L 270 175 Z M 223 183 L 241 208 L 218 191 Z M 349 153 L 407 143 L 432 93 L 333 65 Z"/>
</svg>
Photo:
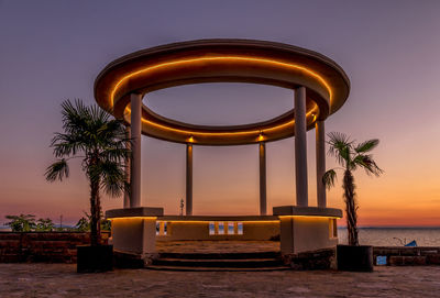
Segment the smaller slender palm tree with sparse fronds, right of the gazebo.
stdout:
<svg viewBox="0 0 440 298">
<path fill-rule="evenodd" d="M 358 239 L 358 202 L 355 199 L 355 185 L 353 172 L 358 168 L 365 169 L 366 174 L 380 176 L 383 170 L 373 161 L 373 155 L 369 154 L 378 145 L 378 140 L 373 139 L 359 144 L 351 141 L 343 133 L 331 132 L 328 134 L 330 141 L 329 154 L 334 156 L 341 168 L 332 168 L 326 172 L 322 177 L 323 184 L 330 188 L 334 186 L 337 177 L 336 169 L 343 170 L 342 188 L 345 201 L 346 229 L 349 232 L 349 244 L 359 245 Z"/>
</svg>

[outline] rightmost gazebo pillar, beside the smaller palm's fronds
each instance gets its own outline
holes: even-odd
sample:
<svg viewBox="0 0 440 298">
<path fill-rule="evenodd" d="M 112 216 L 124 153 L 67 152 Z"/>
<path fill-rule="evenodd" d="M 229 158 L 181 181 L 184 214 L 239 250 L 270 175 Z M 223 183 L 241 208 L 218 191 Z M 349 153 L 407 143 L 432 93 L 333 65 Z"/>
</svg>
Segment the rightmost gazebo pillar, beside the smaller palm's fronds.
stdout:
<svg viewBox="0 0 440 298">
<path fill-rule="evenodd" d="M 315 125 L 318 207 L 326 208 L 326 185 L 322 183 L 322 177 L 326 173 L 326 128 L 323 121 L 320 120 L 318 120 Z"/>
</svg>

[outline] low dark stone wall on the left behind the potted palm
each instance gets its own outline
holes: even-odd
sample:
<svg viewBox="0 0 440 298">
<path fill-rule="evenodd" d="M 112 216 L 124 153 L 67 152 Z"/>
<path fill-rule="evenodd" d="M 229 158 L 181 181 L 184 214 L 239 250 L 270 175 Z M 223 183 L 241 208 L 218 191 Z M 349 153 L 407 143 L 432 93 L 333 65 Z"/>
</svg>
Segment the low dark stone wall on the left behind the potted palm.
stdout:
<svg viewBox="0 0 440 298">
<path fill-rule="evenodd" d="M 76 263 L 76 246 L 89 243 L 85 232 L 0 232 L 0 263 Z"/>
</svg>

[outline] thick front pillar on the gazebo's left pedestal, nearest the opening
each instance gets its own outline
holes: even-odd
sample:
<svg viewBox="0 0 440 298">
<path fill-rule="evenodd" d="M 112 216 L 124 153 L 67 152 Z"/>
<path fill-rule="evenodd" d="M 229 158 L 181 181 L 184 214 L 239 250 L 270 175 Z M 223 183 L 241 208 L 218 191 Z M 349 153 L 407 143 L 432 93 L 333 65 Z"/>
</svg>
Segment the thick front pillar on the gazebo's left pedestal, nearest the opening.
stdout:
<svg viewBox="0 0 440 298">
<path fill-rule="evenodd" d="M 141 131 L 142 131 L 142 96 L 131 93 L 131 200 L 130 207 L 141 206 Z"/>
</svg>

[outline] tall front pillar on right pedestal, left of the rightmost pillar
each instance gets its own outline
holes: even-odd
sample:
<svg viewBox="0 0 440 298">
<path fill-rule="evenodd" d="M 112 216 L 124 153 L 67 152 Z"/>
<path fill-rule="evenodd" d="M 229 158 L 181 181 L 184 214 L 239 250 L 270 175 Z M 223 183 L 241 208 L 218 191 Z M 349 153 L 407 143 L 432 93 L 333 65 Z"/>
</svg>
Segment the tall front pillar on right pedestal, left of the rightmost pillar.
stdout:
<svg viewBox="0 0 440 298">
<path fill-rule="evenodd" d="M 307 122 L 306 122 L 306 88 L 295 89 L 295 179 L 296 205 L 308 202 L 307 189 Z"/>
</svg>

